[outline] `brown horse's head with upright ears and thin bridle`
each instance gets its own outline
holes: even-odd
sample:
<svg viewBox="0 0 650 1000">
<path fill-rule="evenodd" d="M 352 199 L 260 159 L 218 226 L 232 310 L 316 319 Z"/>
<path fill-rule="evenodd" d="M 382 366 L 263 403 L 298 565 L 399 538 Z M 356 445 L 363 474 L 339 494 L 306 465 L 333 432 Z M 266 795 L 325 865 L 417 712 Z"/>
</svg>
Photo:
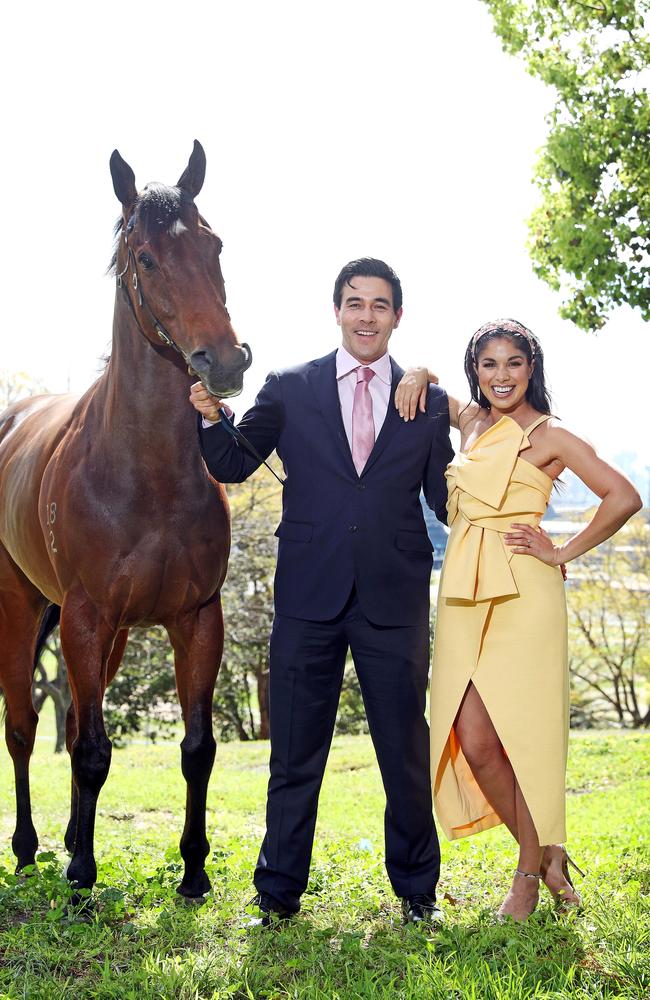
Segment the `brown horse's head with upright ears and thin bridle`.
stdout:
<svg viewBox="0 0 650 1000">
<path fill-rule="evenodd" d="M 205 177 L 203 147 L 194 142 L 175 187 L 148 184 L 138 194 L 117 150 L 111 176 L 122 204 L 115 270 L 141 332 L 179 351 L 213 395 L 237 395 L 252 357 L 226 309 L 221 240 L 194 204 Z"/>
</svg>

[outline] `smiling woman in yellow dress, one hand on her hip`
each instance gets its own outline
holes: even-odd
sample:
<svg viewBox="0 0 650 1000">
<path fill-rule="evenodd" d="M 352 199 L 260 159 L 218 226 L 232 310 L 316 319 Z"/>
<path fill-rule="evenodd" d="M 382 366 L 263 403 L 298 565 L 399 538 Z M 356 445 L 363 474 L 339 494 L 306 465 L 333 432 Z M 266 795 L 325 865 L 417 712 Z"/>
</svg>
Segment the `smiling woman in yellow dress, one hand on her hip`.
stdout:
<svg viewBox="0 0 650 1000">
<path fill-rule="evenodd" d="M 449 400 L 461 451 L 447 469 L 451 533 L 431 675 L 434 802 L 450 839 L 506 824 L 519 857 L 499 915 L 525 920 L 540 879 L 559 902 L 580 904 L 563 846 L 569 691 L 560 566 L 613 535 L 641 499 L 551 416 L 542 349 L 521 323 L 482 326 L 465 372 L 471 401 Z M 437 379 L 423 368 L 405 374 L 395 399 L 403 418 L 424 410 L 429 381 Z M 601 503 L 558 546 L 539 522 L 565 468 Z"/>
</svg>

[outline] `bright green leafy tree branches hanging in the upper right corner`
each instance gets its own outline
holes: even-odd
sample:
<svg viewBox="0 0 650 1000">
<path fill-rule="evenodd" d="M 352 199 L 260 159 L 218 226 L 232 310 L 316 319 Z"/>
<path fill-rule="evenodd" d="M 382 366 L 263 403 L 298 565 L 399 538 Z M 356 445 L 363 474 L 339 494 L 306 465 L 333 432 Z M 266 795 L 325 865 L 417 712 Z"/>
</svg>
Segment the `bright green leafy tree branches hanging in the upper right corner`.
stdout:
<svg viewBox="0 0 650 1000">
<path fill-rule="evenodd" d="M 582 329 L 621 304 L 650 319 L 649 0 L 483 3 L 505 51 L 556 95 L 529 220 L 535 273 Z"/>
</svg>

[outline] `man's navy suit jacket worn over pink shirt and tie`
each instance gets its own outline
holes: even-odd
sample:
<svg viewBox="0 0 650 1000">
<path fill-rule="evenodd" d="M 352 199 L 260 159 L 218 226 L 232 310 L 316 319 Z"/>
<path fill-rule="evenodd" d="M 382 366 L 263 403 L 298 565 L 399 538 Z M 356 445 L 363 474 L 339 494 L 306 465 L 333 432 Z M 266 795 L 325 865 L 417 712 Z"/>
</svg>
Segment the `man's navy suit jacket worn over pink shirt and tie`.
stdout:
<svg viewBox="0 0 650 1000">
<path fill-rule="evenodd" d="M 447 395 L 430 386 L 427 412 L 404 422 L 393 405 L 404 374 L 391 359 L 386 419 L 359 476 L 343 428 L 336 351 L 271 372 L 237 425 L 267 458 L 275 449 L 286 484 L 275 575 L 275 608 L 327 621 L 356 586 L 361 610 L 377 625 L 425 625 L 432 546 L 420 491 L 446 522 L 444 472 L 453 458 Z M 215 424 L 200 429 L 210 473 L 240 483 L 259 462 Z"/>
</svg>

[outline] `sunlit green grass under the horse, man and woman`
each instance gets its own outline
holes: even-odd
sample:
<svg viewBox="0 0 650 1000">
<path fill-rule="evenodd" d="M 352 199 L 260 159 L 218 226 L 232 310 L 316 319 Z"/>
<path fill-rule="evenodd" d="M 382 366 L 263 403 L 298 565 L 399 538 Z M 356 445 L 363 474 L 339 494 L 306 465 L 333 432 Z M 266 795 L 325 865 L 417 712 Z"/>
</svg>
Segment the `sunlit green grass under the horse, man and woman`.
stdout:
<svg viewBox="0 0 650 1000">
<path fill-rule="evenodd" d="M 43 730 L 50 725 L 44 721 Z M 42 730 L 42 731 L 43 731 Z M 203 907 L 176 896 L 184 784 L 174 744 L 115 750 L 99 803 L 99 884 L 91 915 L 66 907 L 61 851 L 67 757 L 39 741 L 33 800 L 44 852 L 13 876 L 13 779 L 0 754 L 0 997 L 433 998 L 581 1000 L 650 994 L 647 830 L 650 737 L 574 733 L 572 853 L 587 868 L 581 914 L 547 895 L 525 925 L 494 921 L 515 854 L 502 830 L 443 842 L 447 924 L 404 927 L 383 866 L 383 795 L 367 737 L 335 741 L 321 795 L 308 892 L 292 924 L 245 931 L 263 832 L 267 744 L 221 746 L 209 795 Z"/>
</svg>

